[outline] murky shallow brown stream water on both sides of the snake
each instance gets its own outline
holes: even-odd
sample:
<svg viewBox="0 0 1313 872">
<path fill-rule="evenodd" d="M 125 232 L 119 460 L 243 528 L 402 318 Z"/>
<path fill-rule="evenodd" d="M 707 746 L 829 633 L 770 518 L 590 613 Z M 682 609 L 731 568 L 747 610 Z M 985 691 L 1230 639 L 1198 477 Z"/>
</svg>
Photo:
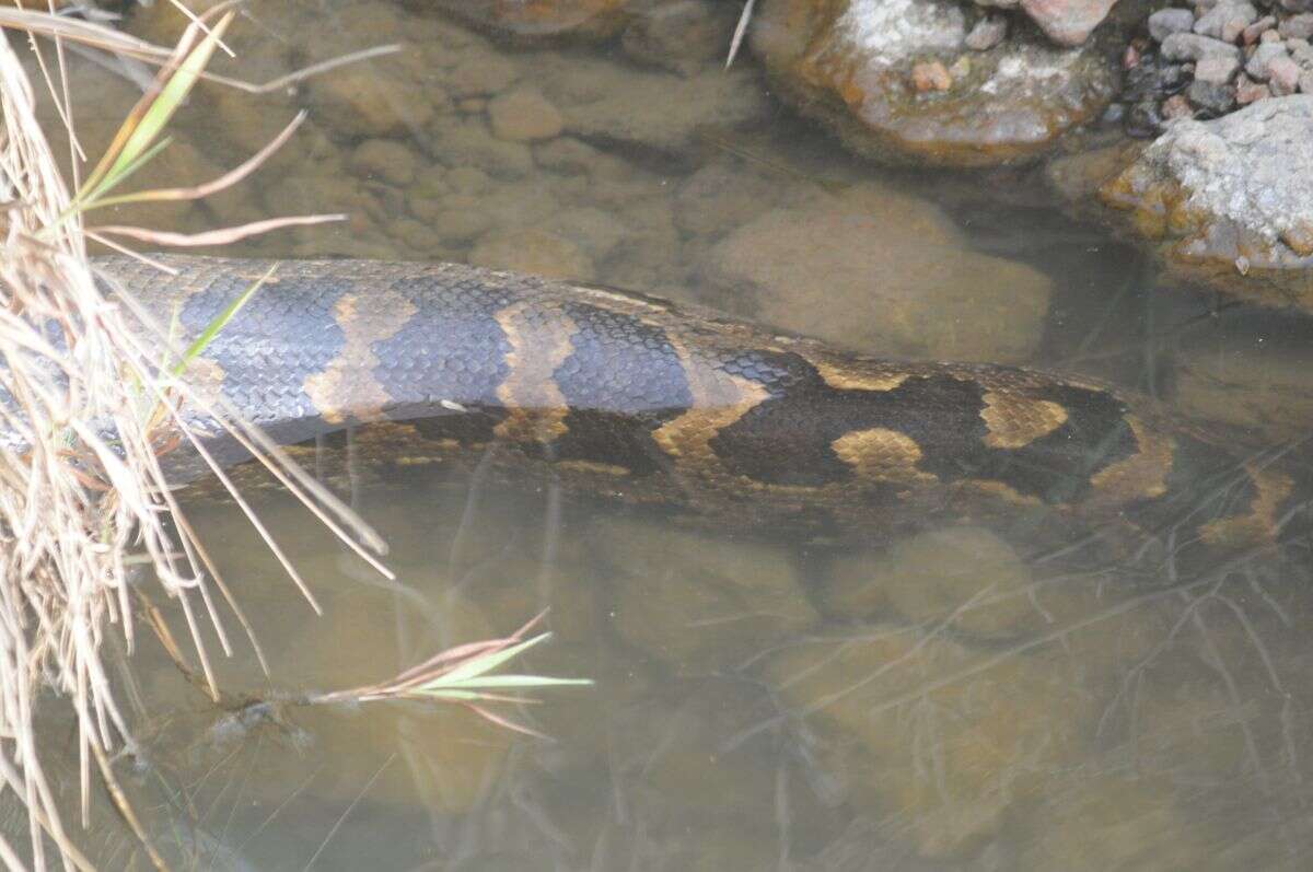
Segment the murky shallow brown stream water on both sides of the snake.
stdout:
<svg viewBox="0 0 1313 872">
<path fill-rule="evenodd" d="M 133 29 L 163 38 L 161 7 Z M 750 58 L 726 77 L 696 41 L 678 72 L 633 47 L 507 49 L 382 3 L 252 14 L 234 37 L 248 79 L 378 42 L 406 53 L 294 95 L 196 97 L 160 184 L 227 168 L 298 105 L 311 120 L 253 184 L 130 218 L 347 210 L 244 251 L 469 260 L 867 351 L 1058 366 L 1255 447 L 1313 419 L 1304 319 L 1155 286 L 1036 175 L 850 158 L 775 104 Z M 102 141 L 133 92 L 85 75 L 108 89 L 84 116 Z M 1313 855 L 1300 542 L 1173 579 L 976 528 L 869 552 L 735 537 L 478 469 L 343 496 L 391 544 L 395 584 L 261 499 L 322 617 L 235 511 L 193 510 L 270 670 L 227 619 L 227 689 L 378 682 L 548 607 L 555 637 L 527 670 L 596 687 L 498 709 L 549 739 L 418 704 L 235 725 L 143 642 L 123 689 L 143 764 L 125 781 L 183 864 L 1296 869 Z M 112 826 L 95 839 L 106 868 L 131 856 Z"/>
</svg>

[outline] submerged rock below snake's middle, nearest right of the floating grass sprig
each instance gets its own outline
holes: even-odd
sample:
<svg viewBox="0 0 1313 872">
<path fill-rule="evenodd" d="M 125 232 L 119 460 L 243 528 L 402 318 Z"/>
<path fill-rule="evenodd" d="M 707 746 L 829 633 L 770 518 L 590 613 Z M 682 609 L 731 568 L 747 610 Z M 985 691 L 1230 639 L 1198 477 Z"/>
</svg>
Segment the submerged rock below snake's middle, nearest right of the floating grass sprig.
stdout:
<svg viewBox="0 0 1313 872">
<path fill-rule="evenodd" d="M 629 519 L 595 524 L 614 573 L 616 632 L 684 674 L 709 674 L 817 624 L 783 548 L 706 540 Z"/>
</svg>

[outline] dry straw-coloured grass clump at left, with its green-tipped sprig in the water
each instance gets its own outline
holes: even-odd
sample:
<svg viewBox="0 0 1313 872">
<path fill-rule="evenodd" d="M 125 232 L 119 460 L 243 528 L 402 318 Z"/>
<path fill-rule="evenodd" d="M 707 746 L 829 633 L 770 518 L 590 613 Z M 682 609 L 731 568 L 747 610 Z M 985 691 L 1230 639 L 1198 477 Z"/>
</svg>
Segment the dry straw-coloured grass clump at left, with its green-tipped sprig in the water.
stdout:
<svg viewBox="0 0 1313 872">
<path fill-rule="evenodd" d="M 164 127 L 192 87 L 211 77 L 205 64 L 222 45 L 232 20 L 227 5 L 194 20 L 172 53 L 88 22 L 0 9 L 0 26 L 55 38 L 59 72 L 63 39 L 108 46 L 161 66 L 104 158 L 70 189 L 37 123 L 32 84 L 0 32 L 0 792 L 12 792 L 29 812 L 25 843 L 11 843 L 0 835 L 0 861 L 11 868 L 45 868 L 51 854 L 64 867 L 92 868 L 62 819 L 59 791 L 42 767 L 33 725 L 45 688 L 58 691 L 72 709 L 83 822 L 89 818 L 91 785 L 98 779 L 151 860 L 163 867 L 112 766 L 114 752 L 130 743 L 130 729 L 116 701 L 105 645 L 110 634 L 119 634 L 131 650 L 134 615 L 146 601 L 144 578 L 154 574 L 163 594 L 184 615 L 201 662 L 197 683 L 214 700 L 221 695 L 202 626 L 207 622 L 225 654 L 231 654 L 221 619 L 222 601 L 247 626 L 264 663 L 238 603 L 172 496 L 159 461 L 161 448 L 189 445 L 210 465 L 314 605 L 309 586 L 273 536 L 231 487 L 204 444 L 188 432 L 179 412 L 183 404 L 194 403 L 211 414 L 345 544 L 389 574 L 378 561 L 383 545 L 377 534 L 259 429 L 227 408 L 222 398 L 202 397 L 185 380 L 188 361 L 204 351 L 259 285 L 235 299 L 190 347 L 177 349 L 165 330 L 146 323 L 130 289 L 114 302 L 105 299 L 87 256 L 88 239 L 119 250 L 123 246 L 117 240 L 122 239 L 209 246 L 289 225 L 341 218 L 272 218 L 193 235 L 87 225 L 87 217 L 104 206 L 193 200 L 227 188 L 253 172 L 301 122 L 303 116 L 221 179 L 194 188 L 122 193 L 125 183 L 140 177 L 150 160 L 168 147 Z M 60 100 L 56 76 L 49 72 L 45 59 L 41 66 L 60 117 L 68 122 L 72 110 L 67 95 Z M 274 84 L 281 87 L 286 80 Z M 71 125 L 68 137 L 76 155 Z M 147 615 L 171 655 L 188 668 L 154 605 L 147 607 Z M 527 701 L 507 696 L 507 691 L 578 682 L 491 675 L 546 638 L 523 638 L 528 629 L 506 640 L 446 651 L 390 682 L 306 701 L 453 701 L 498 724 L 529 731 L 484 704 Z"/>
</svg>

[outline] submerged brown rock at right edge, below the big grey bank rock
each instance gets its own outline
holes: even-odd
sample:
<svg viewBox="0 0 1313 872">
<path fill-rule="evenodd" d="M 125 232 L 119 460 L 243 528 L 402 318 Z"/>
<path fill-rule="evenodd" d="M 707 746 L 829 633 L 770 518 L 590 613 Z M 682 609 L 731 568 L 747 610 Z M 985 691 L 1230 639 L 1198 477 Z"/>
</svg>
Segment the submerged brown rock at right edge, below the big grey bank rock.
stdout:
<svg viewBox="0 0 1313 872">
<path fill-rule="evenodd" d="M 1292 330 L 1287 315 L 1275 318 L 1232 316 L 1182 336 L 1175 406 L 1190 418 L 1242 428 L 1263 444 L 1305 436 L 1313 428 L 1313 341 L 1306 328 Z"/>
</svg>

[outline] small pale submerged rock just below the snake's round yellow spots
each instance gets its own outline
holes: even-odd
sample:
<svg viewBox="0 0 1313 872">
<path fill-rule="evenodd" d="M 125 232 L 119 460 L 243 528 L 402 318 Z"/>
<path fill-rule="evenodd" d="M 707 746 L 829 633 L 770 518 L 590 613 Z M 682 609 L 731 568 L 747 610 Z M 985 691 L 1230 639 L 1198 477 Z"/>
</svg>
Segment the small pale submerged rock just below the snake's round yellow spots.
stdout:
<svg viewBox="0 0 1313 872">
<path fill-rule="evenodd" d="M 1031 580 L 1025 563 L 998 536 L 952 527 L 894 542 L 877 559 L 840 558 L 830 567 L 822 599 L 826 615 L 839 620 L 888 611 L 914 624 L 952 617 L 955 632 L 1001 640 L 1044 625 L 1027 596 Z"/>
</svg>

